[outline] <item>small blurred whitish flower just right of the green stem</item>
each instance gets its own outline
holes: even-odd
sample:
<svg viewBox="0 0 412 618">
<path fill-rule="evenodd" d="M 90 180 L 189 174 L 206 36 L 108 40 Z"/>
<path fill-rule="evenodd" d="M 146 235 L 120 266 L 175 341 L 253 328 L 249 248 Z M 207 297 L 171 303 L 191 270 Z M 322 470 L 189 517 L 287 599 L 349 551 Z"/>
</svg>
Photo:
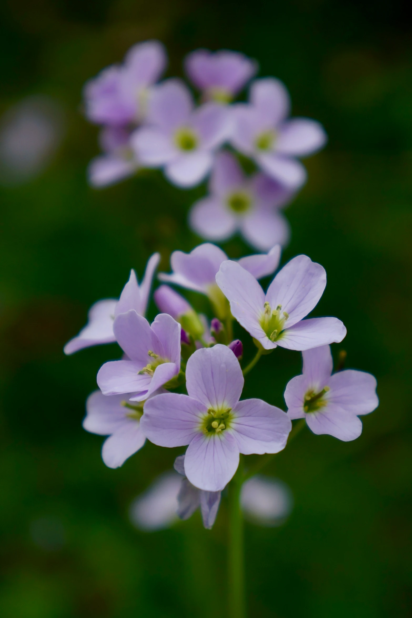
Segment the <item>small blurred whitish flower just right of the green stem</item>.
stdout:
<svg viewBox="0 0 412 618">
<path fill-rule="evenodd" d="M 293 498 L 283 481 L 256 475 L 243 483 L 240 504 L 251 522 L 279 526 L 292 511 Z"/>
</svg>

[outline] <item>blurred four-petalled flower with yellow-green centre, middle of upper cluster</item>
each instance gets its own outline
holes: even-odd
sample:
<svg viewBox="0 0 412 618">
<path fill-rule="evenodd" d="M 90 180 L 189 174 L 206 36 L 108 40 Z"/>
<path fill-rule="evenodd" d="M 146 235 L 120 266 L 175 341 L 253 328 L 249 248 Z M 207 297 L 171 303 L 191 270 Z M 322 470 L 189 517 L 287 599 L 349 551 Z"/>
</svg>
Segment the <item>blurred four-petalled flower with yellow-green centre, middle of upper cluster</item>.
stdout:
<svg viewBox="0 0 412 618">
<path fill-rule="evenodd" d="M 229 137 L 227 110 L 216 103 L 194 109 L 188 88 L 167 80 L 149 99 L 147 127 L 133 133 L 130 143 L 146 167 L 164 167 L 178 187 L 193 187 L 210 171 L 214 151 Z"/>
</svg>

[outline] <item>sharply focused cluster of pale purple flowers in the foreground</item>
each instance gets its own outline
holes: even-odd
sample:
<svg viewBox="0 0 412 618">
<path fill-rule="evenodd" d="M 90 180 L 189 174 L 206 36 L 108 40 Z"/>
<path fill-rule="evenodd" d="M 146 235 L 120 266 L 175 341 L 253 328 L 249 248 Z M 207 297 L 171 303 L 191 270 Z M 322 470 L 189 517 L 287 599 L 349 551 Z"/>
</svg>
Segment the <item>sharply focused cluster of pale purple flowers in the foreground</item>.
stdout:
<svg viewBox="0 0 412 618">
<path fill-rule="evenodd" d="M 346 329 L 337 318 L 306 318 L 326 286 L 324 268 L 308 256 L 283 266 L 265 294 L 258 279 L 278 268 L 279 245 L 238 261 L 209 243 L 191 253 L 176 251 L 172 272 L 159 273 L 154 300 L 161 313 L 150 324 L 145 311 L 158 261 L 158 254 L 151 256 L 140 286 L 132 271 L 119 300 L 93 305 L 89 323 L 65 352 L 119 344 L 124 354 L 99 370 L 99 390 L 87 400 L 83 426 L 109 436 L 102 456 L 111 468 L 124 464 L 146 439 L 161 447 L 187 446 L 175 462 L 184 477 L 177 512 L 187 519 L 200 506 L 204 526 L 211 528 L 240 455 L 282 451 L 295 419 L 305 419 L 315 434 L 357 438 L 359 415 L 378 405 L 376 380 L 355 370 L 332 375 L 329 344 L 342 341 Z M 206 295 L 210 323 L 167 284 Z M 243 369 L 233 320 L 257 348 Z M 303 373 L 285 390 L 286 412 L 261 399 L 242 399 L 244 376 L 278 346 L 303 354 Z"/>
</svg>

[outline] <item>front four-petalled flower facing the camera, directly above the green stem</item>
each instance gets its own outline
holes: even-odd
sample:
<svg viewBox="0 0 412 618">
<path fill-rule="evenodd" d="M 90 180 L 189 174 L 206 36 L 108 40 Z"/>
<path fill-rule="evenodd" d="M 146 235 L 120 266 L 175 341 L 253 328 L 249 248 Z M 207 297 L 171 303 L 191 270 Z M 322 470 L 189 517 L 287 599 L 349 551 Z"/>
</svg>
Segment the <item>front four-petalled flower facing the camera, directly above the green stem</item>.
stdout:
<svg viewBox="0 0 412 618">
<path fill-rule="evenodd" d="M 204 491 L 221 491 L 237 470 L 239 453 L 277 453 L 292 423 L 260 399 L 239 401 L 243 375 L 225 345 L 197 350 L 187 362 L 187 395 L 161 394 L 145 403 L 141 427 L 158 446 L 183 446 L 185 475 Z"/>
</svg>

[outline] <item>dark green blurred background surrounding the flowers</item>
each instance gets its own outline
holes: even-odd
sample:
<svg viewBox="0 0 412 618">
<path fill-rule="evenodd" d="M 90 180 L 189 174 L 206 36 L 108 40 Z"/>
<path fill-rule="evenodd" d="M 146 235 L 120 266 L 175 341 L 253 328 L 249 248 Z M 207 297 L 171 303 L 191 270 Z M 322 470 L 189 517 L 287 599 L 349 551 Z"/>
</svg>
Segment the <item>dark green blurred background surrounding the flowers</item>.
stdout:
<svg viewBox="0 0 412 618">
<path fill-rule="evenodd" d="M 336 315 L 347 366 L 377 376 L 380 406 L 355 442 L 308 430 L 268 474 L 292 488 L 279 528 L 246 525 L 251 617 L 412 616 L 411 266 L 412 43 L 406 2 L 293 0 L 9 0 L 0 9 L 0 111 L 41 93 L 59 101 L 64 142 L 31 182 L 0 187 L 0 616 L 153 618 L 226 615 L 227 520 L 196 514 L 141 533 L 132 499 L 182 449 L 148 444 L 119 470 L 82 430 L 84 402 L 116 345 L 64 357 L 99 298 L 117 297 L 131 267 L 199 239 L 182 191 L 158 172 L 106 190 L 86 184 L 98 152 L 81 113 L 85 80 L 130 45 L 162 40 L 168 75 L 200 46 L 242 51 L 284 80 L 293 113 L 321 121 L 329 145 L 287 211 L 292 242 L 327 271 L 313 315 Z M 231 257 L 251 252 L 234 239 Z M 204 301 L 189 295 L 198 307 Z M 155 308 L 152 305 L 150 316 Z M 246 339 L 238 328 L 237 335 Z M 246 348 L 246 357 L 252 354 Z M 264 358 L 244 396 L 284 407 L 300 354 Z M 56 543 L 36 543 L 38 522 Z M 53 523 L 54 522 L 54 523 Z M 52 535 L 53 536 L 53 535 Z"/>
</svg>

